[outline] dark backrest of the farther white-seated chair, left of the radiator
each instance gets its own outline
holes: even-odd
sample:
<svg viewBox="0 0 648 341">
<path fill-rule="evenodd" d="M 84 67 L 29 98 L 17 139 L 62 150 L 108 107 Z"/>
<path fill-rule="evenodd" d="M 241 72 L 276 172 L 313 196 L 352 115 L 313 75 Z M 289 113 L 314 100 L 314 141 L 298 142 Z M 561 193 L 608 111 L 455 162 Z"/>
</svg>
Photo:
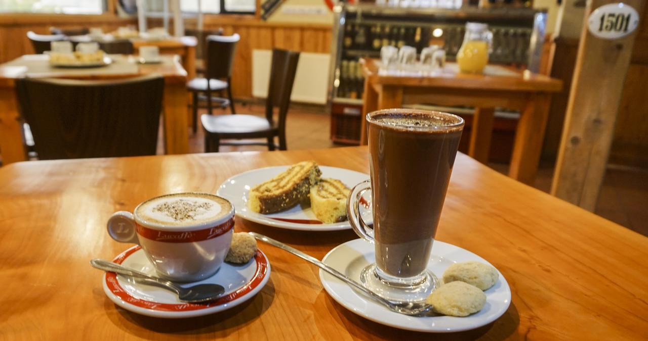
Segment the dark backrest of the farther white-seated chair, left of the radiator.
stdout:
<svg viewBox="0 0 648 341">
<path fill-rule="evenodd" d="M 234 54 L 240 36 L 207 36 L 207 58 L 205 59 L 205 77 L 229 78 L 232 75 Z"/>
</svg>

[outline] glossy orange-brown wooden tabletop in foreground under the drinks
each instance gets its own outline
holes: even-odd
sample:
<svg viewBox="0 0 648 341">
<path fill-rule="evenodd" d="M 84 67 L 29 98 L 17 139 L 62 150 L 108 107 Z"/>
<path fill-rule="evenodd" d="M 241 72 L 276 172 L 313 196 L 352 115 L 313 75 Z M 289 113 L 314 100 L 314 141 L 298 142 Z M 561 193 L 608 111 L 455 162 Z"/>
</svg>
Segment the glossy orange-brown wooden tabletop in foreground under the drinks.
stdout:
<svg viewBox="0 0 648 341">
<path fill-rule="evenodd" d="M 106 233 L 117 210 L 170 192 L 216 192 L 231 175 L 316 160 L 367 172 L 366 147 L 21 162 L 0 168 L 0 338 L 422 340 L 376 324 L 325 292 L 318 268 L 259 243 L 272 264 L 264 289 L 229 311 L 161 320 L 114 305 L 91 258 L 128 248 Z M 237 219 L 315 256 L 355 239 Z M 648 238 L 457 155 L 437 239 L 490 261 L 513 300 L 496 322 L 435 337 L 621 340 L 648 337 Z"/>
</svg>

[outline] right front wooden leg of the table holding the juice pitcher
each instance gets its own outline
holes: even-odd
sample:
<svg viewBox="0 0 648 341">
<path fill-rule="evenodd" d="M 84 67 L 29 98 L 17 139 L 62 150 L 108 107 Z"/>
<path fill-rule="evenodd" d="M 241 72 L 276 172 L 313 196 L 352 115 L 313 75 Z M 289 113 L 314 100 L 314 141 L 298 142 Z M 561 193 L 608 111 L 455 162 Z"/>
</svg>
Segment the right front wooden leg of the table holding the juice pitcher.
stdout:
<svg viewBox="0 0 648 341">
<path fill-rule="evenodd" d="M 533 186 L 547 126 L 549 94 L 530 94 L 515 132 L 509 177 Z"/>
</svg>

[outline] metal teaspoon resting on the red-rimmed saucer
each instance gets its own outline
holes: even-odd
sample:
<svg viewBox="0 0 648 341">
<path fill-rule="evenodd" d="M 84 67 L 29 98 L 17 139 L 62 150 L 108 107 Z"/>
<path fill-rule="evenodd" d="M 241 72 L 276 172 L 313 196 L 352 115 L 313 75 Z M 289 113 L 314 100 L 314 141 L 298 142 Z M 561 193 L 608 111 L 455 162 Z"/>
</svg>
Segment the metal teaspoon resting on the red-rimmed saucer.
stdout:
<svg viewBox="0 0 648 341">
<path fill-rule="evenodd" d="M 198 284 L 193 285 L 192 287 L 180 287 L 179 285 L 176 285 L 170 281 L 165 281 L 161 280 L 160 278 L 148 276 L 143 272 L 128 269 L 127 267 L 123 267 L 122 265 L 115 264 L 104 259 L 92 259 L 90 261 L 90 265 L 100 270 L 117 272 L 118 274 L 132 276 L 137 278 L 138 281 L 142 281 L 143 283 L 157 285 L 158 287 L 163 287 L 165 289 L 169 289 L 170 291 L 175 291 L 178 294 L 179 300 L 181 300 L 182 302 L 207 302 L 215 300 L 225 292 L 225 288 L 222 285 L 218 284 Z"/>
</svg>

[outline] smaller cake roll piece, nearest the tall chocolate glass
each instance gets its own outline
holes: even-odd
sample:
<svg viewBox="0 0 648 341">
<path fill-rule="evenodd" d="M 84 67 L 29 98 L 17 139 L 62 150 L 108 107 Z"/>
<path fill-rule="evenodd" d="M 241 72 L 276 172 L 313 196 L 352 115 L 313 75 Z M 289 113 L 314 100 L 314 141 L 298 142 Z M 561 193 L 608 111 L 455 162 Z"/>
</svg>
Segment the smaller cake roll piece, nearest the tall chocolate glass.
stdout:
<svg viewBox="0 0 648 341">
<path fill-rule="evenodd" d="M 345 221 L 350 191 L 340 180 L 319 179 L 318 184 L 310 188 L 310 208 L 322 223 Z"/>
</svg>

